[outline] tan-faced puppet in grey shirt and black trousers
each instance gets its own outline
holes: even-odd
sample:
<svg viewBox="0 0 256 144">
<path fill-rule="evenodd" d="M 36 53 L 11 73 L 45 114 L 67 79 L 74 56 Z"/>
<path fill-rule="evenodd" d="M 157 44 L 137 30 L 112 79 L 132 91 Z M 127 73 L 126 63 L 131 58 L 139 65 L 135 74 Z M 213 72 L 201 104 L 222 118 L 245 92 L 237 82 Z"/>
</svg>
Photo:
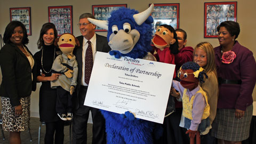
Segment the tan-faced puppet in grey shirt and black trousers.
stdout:
<svg viewBox="0 0 256 144">
<path fill-rule="evenodd" d="M 51 88 L 57 89 L 56 112 L 63 120 L 71 120 L 72 114 L 72 94 L 76 87 L 78 66 L 73 50 L 76 45 L 79 46 L 78 39 L 72 34 L 62 34 L 55 39 L 55 45 L 58 44 L 62 54 L 54 60 L 52 73 L 62 74 L 56 81 L 51 81 Z"/>
</svg>

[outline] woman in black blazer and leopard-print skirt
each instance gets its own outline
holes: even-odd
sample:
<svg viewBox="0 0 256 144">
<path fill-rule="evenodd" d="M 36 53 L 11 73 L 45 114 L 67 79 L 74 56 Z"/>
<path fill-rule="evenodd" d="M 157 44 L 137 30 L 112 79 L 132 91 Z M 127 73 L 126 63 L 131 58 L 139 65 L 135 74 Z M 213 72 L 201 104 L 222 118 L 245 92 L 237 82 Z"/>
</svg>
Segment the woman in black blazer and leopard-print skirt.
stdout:
<svg viewBox="0 0 256 144">
<path fill-rule="evenodd" d="M 3 129 L 10 132 L 10 143 L 21 143 L 20 132 L 29 125 L 30 94 L 36 90 L 36 63 L 25 45 L 28 35 L 21 22 L 11 21 L 3 40 L 5 45 L 0 51 Z"/>
</svg>

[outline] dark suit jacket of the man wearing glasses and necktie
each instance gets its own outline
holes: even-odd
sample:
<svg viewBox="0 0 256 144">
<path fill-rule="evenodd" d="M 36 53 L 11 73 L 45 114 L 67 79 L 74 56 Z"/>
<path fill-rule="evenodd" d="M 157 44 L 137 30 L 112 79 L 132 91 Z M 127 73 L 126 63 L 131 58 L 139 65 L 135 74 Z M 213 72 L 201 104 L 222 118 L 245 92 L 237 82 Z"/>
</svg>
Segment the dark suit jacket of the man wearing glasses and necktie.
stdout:
<svg viewBox="0 0 256 144">
<path fill-rule="evenodd" d="M 82 78 L 82 65 L 83 65 L 83 61 L 82 61 L 82 53 L 83 53 L 83 36 L 78 36 L 76 37 L 80 43 L 79 47 L 76 47 L 75 50 L 73 51 L 73 53 L 76 55 L 76 60 L 78 63 L 78 77 L 77 77 L 77 86 L 76 86 L 76 92 L 77 92 L 77 100 L 76 100 L 76 106 L 75 108 L 77 109 L 79 107 L 79 104 L 77 103 L 79 101 L 78 98 L 78 94 L 79 94 L 79 90 L 81 87 L 81 78 Z M 99 52 L 109 52 L 111 49 L 108 45 L 108 41 L 107 41 L 107 37 L 105 36 L 101 36 L 96 34 L 96 51 Z"/>
</svg>

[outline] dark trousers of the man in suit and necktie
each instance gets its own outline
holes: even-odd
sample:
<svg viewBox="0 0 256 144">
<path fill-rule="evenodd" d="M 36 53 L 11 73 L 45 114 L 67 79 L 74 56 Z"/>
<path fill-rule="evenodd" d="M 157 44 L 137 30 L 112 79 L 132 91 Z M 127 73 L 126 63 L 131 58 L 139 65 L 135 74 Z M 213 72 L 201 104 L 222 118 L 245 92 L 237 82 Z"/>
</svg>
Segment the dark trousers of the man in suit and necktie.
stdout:
<svg viewBox="0 0 256 144">
<path fill-rule="evenodd" d="M 89 112 L 92 113 L 92 143 L 102 144 L 106 143 L 105 132 L 105 118 L 100 113 L 99 109 L 84 106 L 85 95 L 87 87 L 81 87 L 78 93 L 79 108 L 74 110 L 73 113 L 73 129 L 72 129 L 72 142 L 83 143 L 87 142 L 87 122 L 89 118 Z"/>
</svg>

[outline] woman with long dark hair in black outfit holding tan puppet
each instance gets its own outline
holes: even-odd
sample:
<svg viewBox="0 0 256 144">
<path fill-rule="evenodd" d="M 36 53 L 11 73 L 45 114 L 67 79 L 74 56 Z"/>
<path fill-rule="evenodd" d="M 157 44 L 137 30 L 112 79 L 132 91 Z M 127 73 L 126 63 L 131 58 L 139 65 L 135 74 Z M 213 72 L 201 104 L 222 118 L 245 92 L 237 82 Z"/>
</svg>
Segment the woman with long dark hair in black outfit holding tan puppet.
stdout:
<svg viewBox="0 0 256 144">
<path fill-rule="evenodd" d="M 64 122 L 58 117 L 55 105 L 57 99 L 56 89 L 51 89 L 51 81 L 58 79 L 60 74 L 52 74 L 52 63 L 60 54 L 58 47 L 54 46 L 57 38 L 57 30 L 53 23 L 47 22 L 43 25 L 37 42 L 38 49 L 34 57 L 38 65 L 37 82 L 42 82 L 39 91 L 39 115 L 40 121 L 45 122 L 46 132 L 44 143 L 63 143 Z M 55 133 L 55 139 L 54 139 Z"/>
</svg>

